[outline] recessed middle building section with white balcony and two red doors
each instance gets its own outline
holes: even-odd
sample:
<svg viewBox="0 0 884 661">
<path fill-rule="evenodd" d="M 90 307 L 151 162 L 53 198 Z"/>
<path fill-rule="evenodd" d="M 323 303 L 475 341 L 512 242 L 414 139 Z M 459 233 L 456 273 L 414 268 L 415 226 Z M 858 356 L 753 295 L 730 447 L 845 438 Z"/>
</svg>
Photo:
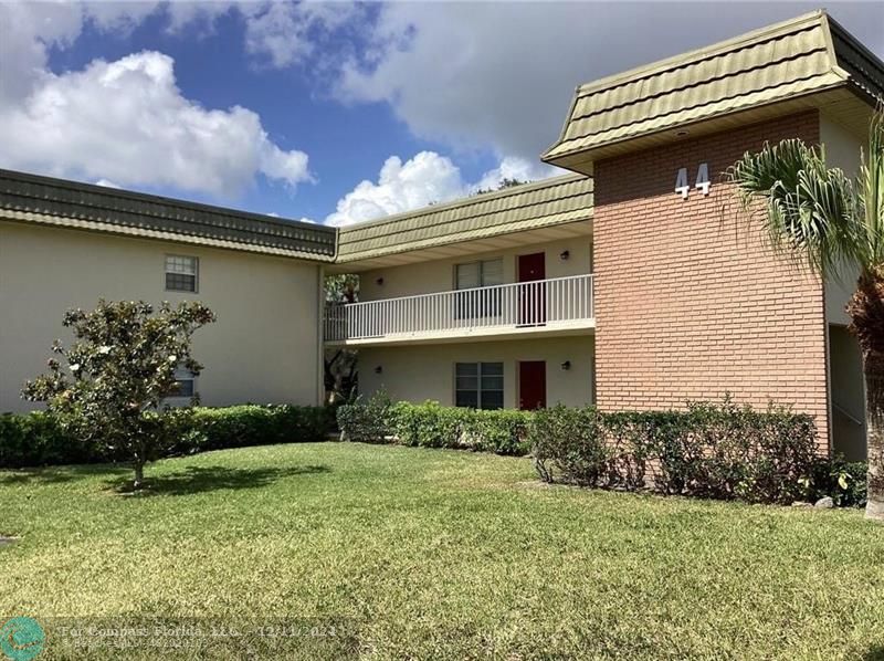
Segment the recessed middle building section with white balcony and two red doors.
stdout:
<svg viewBox="0 0 884 661">
<path fill-rule="evenodd" d="M 344 228 L 360 275 L 326 342 L 360 388 L 483 408 L 593 401 L 592 180 L 565 176 Z"/>
</svg>

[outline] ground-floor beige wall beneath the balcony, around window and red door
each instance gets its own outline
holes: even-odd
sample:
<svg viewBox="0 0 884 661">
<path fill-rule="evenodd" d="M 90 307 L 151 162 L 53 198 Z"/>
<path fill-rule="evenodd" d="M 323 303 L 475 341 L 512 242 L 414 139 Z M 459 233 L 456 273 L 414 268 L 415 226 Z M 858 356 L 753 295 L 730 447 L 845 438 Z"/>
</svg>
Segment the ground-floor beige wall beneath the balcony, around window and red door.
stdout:
<svg viewBox="0 0 884 661">
<path fill-rule="evenodd" d="M 454 403 L 455 363 L 503 363 L 504 403 L 516 408 L 518 361 L 546 360 L 547 405 L 582 406 L 593 401 L 594 339 L 590 335 L 545 339 L 490 340 L 371 347 L 359 350 L 359 389 L 383 387 L 393 400 Z M 561 364 L 570 360 L 568 370 Z M 381 374 L 376 368 L 381 367 Z"/>
</svg>

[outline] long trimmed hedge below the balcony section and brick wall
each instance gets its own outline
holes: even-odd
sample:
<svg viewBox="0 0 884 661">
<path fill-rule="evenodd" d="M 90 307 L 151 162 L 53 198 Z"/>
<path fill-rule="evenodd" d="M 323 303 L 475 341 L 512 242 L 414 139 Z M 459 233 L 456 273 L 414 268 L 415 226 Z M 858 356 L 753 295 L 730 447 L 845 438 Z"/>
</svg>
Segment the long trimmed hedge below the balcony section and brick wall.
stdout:
<svg viewBox="0 0 884 661">
<path fill-rule="evenodd" d="M 831 495 L 864 502 L 864 465 L 817 454 L 809 416 L 729 400 L 686 411 L 602 413 L 557 406 L 535 412 L 392 403 L 380 392 L 337 412 L 341 440 L 534 454 L 546 482 L 748 502 Z"/>
</svg>

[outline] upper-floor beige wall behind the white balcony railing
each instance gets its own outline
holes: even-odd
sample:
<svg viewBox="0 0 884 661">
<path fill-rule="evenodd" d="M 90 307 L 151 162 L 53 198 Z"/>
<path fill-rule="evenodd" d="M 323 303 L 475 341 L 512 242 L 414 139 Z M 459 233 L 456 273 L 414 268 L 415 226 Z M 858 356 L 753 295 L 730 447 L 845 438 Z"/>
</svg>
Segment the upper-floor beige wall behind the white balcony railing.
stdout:
<svg viewBox="0 0 884 661">
<path fill-rule="evenodd" d="M 433 260 L 403 266 L 390 266 L 366 271 L 360 274 L 359 300 L 378 301 L 394 298 L 397 296 L 413 296 L 417 294 L 431 294 L 448 292 L 454 288 L 454 266 L 480 260 L 503 258 L 504 282 L 516 282 L 518 255 L 536 252 L 546 253 L 546 276 L 565 277 L 568 275 L 583 275 L 590 273 L 591 238 L 579 237 L 535 245 L 520 245 L 507 250 L 483 252 L 478 254 L 461 255 L 448 260 Z M 568 251 L 567 260 L 559 255 Z M 378 279 L 383 279 L 378 284 Z"/>
</svg>

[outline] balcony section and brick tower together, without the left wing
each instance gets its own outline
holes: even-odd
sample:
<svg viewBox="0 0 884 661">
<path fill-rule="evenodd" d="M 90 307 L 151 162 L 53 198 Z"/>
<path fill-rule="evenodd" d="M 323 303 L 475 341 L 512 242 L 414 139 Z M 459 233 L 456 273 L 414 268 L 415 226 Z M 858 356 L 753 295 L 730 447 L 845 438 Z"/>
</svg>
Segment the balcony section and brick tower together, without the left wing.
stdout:
<svg viewBox="0 0 884 661">
<path fill-rule="evenodd" d="M 345 228 L 362 302 L 328 343 L 365 391 L 602 409 L 718 399 L 812 413 L 864 453 L 846 285 L 776 256 L 722 174 L 783 138 L 854 172 L 884 65 L 824 12 L 581 85 L 544 160 L 564 177 Z M 590 183 L 591 180 L 591 183 Z M 343 319 L 343 321 L 341 321 Z"/>
</svg>

